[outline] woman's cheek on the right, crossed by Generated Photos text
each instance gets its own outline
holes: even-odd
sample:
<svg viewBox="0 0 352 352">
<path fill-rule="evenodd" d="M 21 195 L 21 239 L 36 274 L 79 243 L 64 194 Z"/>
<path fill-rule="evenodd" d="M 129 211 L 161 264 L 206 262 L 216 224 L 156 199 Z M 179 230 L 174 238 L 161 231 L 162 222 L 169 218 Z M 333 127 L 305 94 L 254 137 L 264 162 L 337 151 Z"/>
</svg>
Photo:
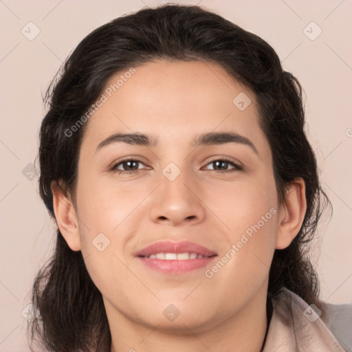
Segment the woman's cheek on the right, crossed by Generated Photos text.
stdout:
<svg viewBox="0 0 352 352">
<path fill-rule="evenodd" d="M 276 243 L 276 185 L 274 175 L 269 172 L 267 177 L 263 175 L 234 184 L 230 192 L 217 188 L 223 200 L 217 201 L 218 216 L 228 225 L 223 231 L 228 243 L 224 255 L 231 258 L 228 269 L 244 280 L 267 275 Z"/>
</svg>

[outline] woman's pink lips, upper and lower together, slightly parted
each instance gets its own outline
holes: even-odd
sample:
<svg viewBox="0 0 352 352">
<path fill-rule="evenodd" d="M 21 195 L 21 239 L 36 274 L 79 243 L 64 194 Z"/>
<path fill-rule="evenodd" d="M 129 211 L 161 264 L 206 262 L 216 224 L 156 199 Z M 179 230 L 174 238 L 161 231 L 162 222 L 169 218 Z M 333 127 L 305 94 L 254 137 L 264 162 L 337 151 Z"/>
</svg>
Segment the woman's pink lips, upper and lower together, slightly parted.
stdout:
<svg viewBox="0 0 352 352">
<path fill-rule="evenodd" d="M 197 253 L 204 256 L 204 258 L 188 259 L 188 260 L 164 260 L 164 259 L 151 259 L 145 256 L 156 253 Z M 197 270 L 201 267 L 209 265 L 217 257 L 217 253 L 190 241 L 173 242 L 173 241 L 160 241 L 148 245 L 136 254 L 139 259 L 146 267 L 161 272 L 163 274 L 184 274 L 193 270 Z"/>
</svg>

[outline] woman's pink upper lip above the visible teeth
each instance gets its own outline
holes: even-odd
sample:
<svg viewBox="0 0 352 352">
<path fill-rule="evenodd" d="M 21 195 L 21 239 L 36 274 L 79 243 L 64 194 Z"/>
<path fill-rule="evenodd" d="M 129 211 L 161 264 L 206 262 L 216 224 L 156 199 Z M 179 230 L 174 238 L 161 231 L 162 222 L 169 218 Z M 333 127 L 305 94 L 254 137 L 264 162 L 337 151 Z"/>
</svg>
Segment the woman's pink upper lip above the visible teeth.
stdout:
<svg viewBox="0 0 352 352">
<path fill-rule="evenodd" d="M 137 252 L 136 256 L 150 256 L 151 254 L 157 253 L 197 253 L 202 256 L 214 256 L 217 255 L 216 252 L 203 247 L 203 245 L 199 245 L 198 243 L 190 242 L 190 241 L 181 241 L 181 242 L 173 242 L 173 241 L 159 241 L 148 245 L 143 248 L 139 252 Z"/>
</svg>

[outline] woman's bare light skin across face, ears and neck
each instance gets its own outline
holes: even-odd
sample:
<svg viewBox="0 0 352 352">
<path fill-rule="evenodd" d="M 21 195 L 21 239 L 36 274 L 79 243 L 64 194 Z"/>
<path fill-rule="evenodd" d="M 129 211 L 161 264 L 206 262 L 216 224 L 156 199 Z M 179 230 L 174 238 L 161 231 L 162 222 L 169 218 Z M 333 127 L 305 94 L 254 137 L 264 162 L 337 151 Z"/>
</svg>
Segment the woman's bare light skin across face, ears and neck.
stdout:
<svg viewBox="0 0 352 352">
<path fill-rule="evenodd" d="M 102 293 L 111 351 L 260 351 L 270 263 L 303 223 L 304 181 L 296 179 L 285 203 L 278 203 L 256 98 L 219 65 L 155 61 L 135 69 L 87 122 L 76 204 L 52 184 L 58 227 L 69 247 L 82 251 Z M 241 92 L 252 100 L 243 111 L 232 103 Z M 199 133 L 212 131 L 239 133 L 259 154 L 239 143 L 192 145 Z M 118 132 L 151 134 L 158 144 L 116 142 L 96 151 Z M 130 156 L 142 160 L 137 173 L 109 170 Z M 221 170 L 214 157 L 244 168 L 225 164 Z M 181 171 L 173 181 L 162 173 L 170 162 Z M 118 168 L 129 170 L 126 164 Z M 156 241 L 193 241 L 217 252 L 219 260 L 271 208 L 276 214 L 211 278 L 206 268 L 155 272 L 134 256 Z M 92 245 L 101 232 L 110 241 L 102 252 Z M 180 313 L 173 322 L 163 314 L 170 304 Z"/>
</svg>

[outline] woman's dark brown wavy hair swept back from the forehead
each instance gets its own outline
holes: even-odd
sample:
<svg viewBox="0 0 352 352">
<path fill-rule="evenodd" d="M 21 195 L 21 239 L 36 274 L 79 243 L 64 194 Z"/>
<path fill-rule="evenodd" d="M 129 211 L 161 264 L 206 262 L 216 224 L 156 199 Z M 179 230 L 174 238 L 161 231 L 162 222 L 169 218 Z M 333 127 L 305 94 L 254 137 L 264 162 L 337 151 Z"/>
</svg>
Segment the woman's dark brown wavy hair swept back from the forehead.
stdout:
<svg viewBox="0 0 352 352">
<path fill-rule="evenodd" d="M 297 177 L 305 181 L 307 198 L 298 235 L 288 248 L 274 252 L 268 298 L 286 287 L 319 306 L 307 243 L 329 199 L 320 188 L 316 157 L 304 132 L 302 88 L 263 39 L 198 6 L 164 5 L 114 19 L 86 36 L 67 58 L 47 90 L 40 131 L 39 188 L 50 214 L 54 217 L 52 182 L 74 200 L 87 123 L 70 136 L 65 132 L 96 102 L 113 74 L 158 58 L 217 63 L 254 92 L 272 151 L 278 199 L 285 201 L 287 186 Z M 45 351 L 109 351 L 102 296 L 81 252 L 70 250 L 59 230 L 52 259 L 34 281 L 32 303 L 40 316 L 29 326 L 31 348 L 37 340 Z"/>
</svg>

